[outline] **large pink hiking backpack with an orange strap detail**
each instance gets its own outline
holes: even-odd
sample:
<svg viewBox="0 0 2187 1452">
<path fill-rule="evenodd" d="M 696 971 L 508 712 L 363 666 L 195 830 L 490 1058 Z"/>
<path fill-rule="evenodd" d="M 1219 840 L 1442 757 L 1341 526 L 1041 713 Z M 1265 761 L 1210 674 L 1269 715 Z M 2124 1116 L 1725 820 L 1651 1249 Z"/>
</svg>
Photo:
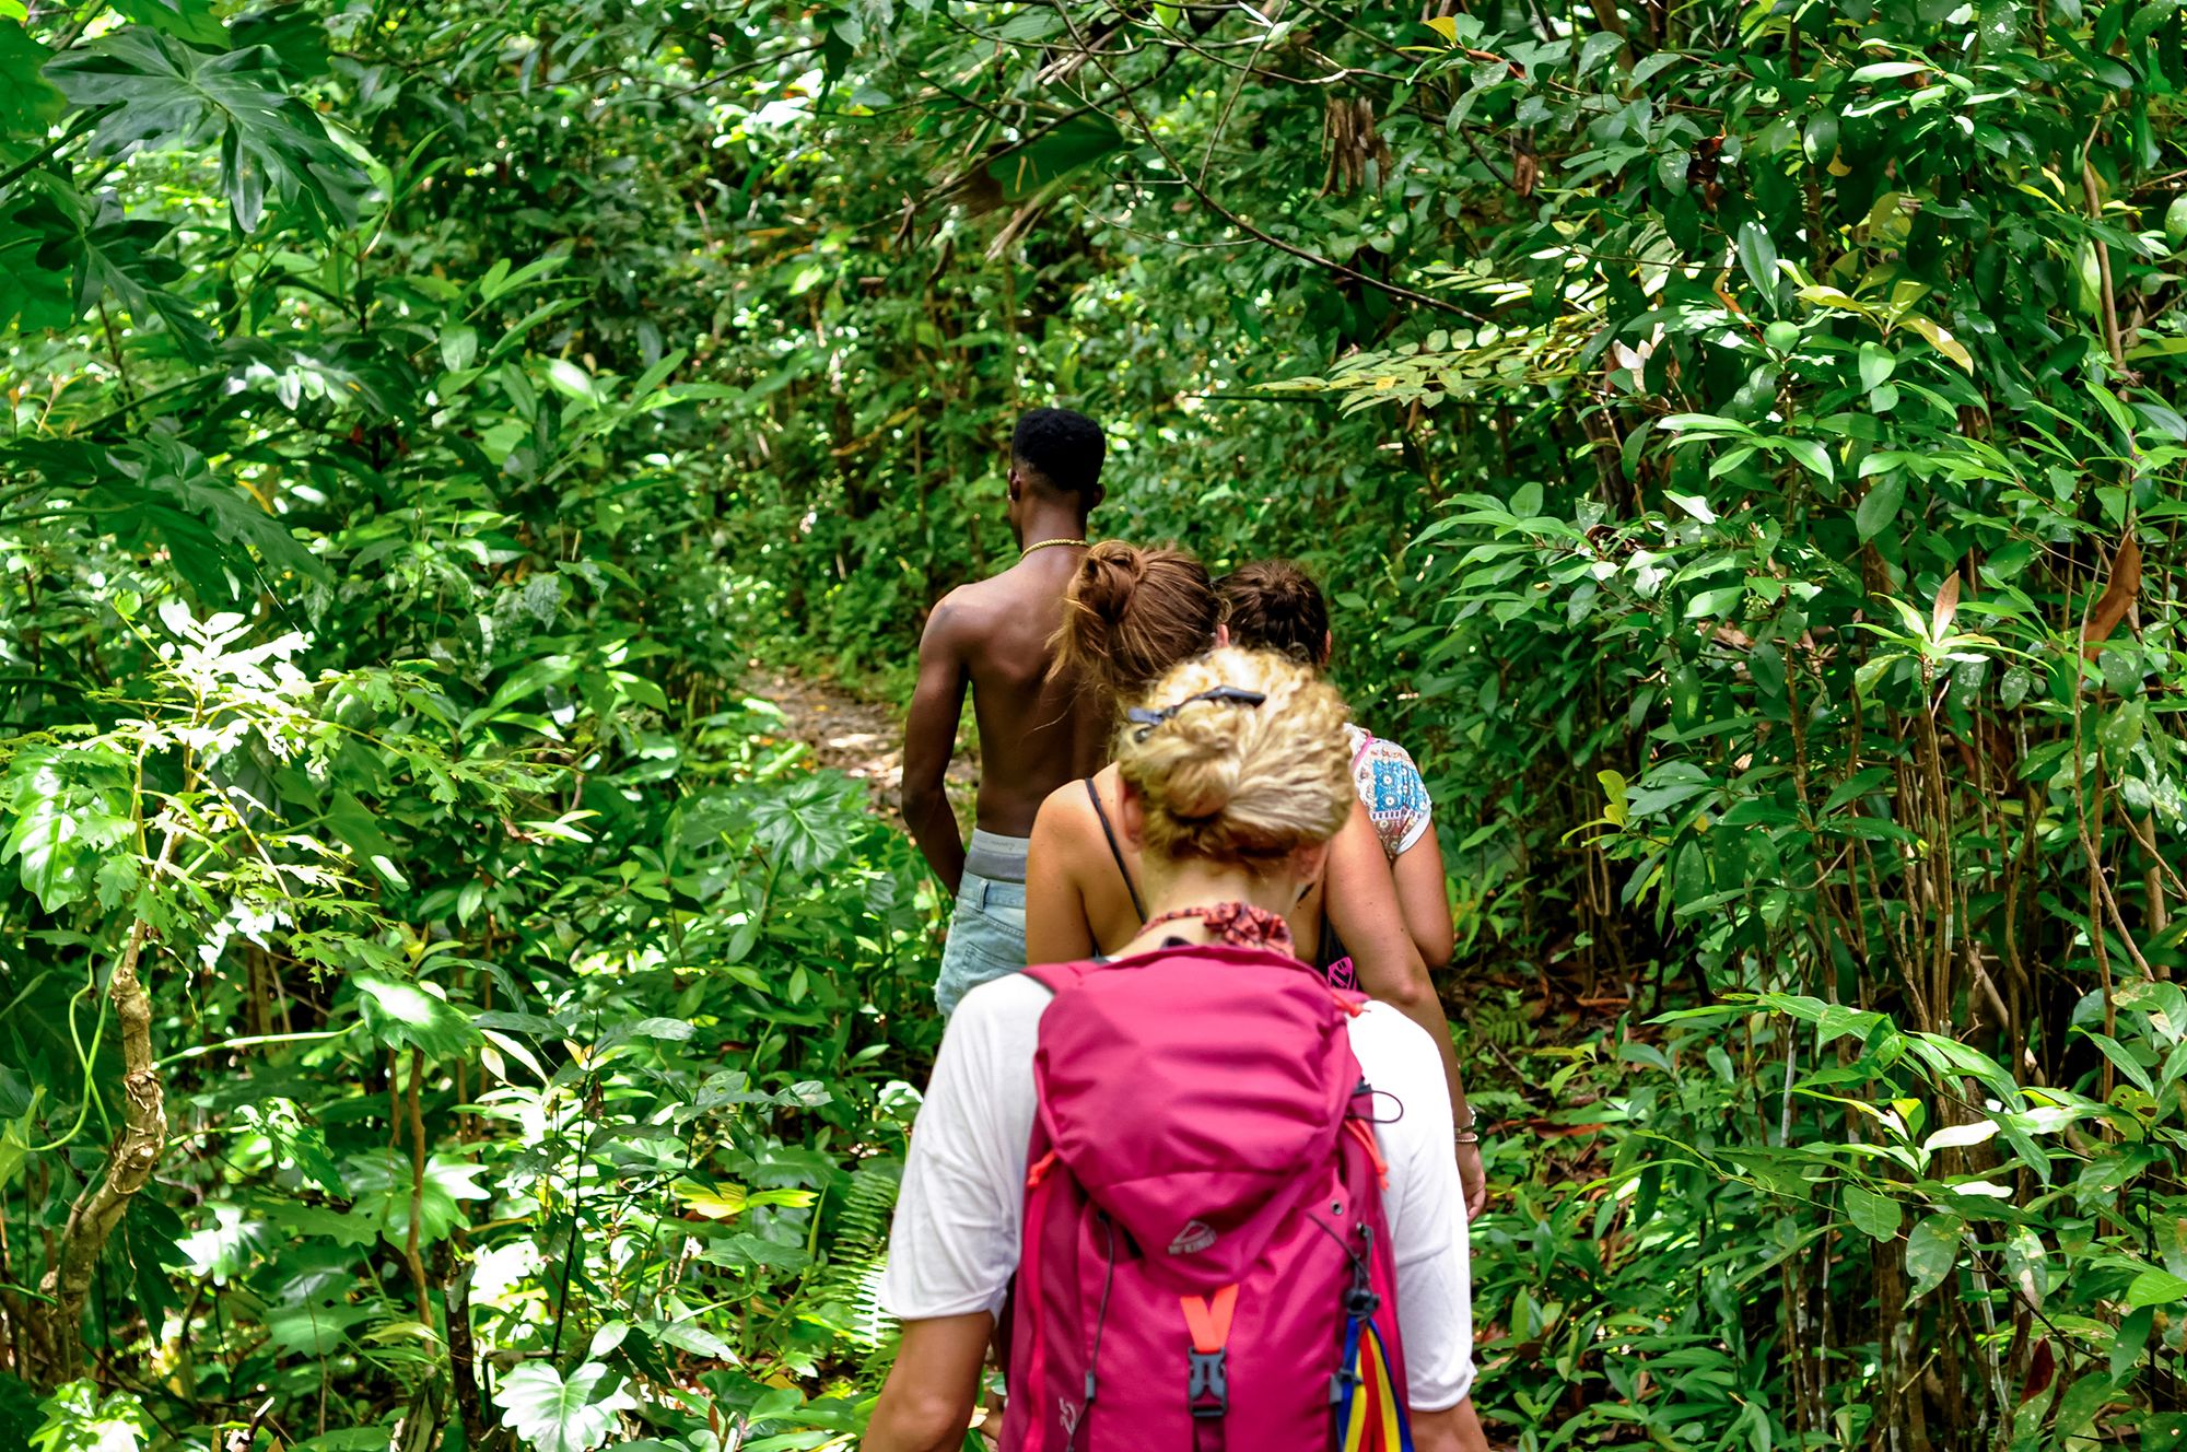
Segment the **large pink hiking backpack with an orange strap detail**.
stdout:
<svg viewBox="0 0 2187 1452">
<path fill-rule="evenodd" d="M 1236 947 L 1028 973 L 1004 1452 L 1408 1452 L 1365 999 Z"/>
</svg>

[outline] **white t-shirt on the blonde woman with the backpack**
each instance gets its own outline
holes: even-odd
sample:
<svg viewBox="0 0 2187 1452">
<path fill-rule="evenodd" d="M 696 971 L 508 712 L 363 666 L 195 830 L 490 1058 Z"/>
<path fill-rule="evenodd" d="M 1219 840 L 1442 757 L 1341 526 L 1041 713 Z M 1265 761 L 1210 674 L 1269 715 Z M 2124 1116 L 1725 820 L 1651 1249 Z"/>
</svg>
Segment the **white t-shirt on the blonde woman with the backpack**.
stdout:
<svg viewBox="0 0 2187 1452">
<path fill-rule="evenodd" d="M 1050 999 L 1013 973 L 967 993 L 949 1019 L 881 1273 L 881 1305 L 901 1321 L 1002 1312 L 1024 1233 L 1032 1050 Z M 1397 1251 L 1406 1400 L 1443 1410 L 1474 1380 L 1465 1196 L 1443 1063 L 1426 1030 L 1387 1004 L 1352 1019 L 1352 1052 L 1376 1087 L 1376 1141 L 1389 1161 L 1382 1209 Z"/>
</svg>

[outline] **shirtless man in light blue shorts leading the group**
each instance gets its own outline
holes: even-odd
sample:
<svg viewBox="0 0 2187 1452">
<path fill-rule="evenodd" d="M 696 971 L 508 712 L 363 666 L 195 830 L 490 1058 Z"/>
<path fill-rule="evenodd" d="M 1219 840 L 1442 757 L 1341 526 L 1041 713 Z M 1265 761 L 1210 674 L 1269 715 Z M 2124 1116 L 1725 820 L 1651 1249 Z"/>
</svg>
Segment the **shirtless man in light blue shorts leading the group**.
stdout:
<svg viewBox="0 0 2187 1452">
<path fill-rule="evenodd" d="M 1102 765 L 1102 711 L 1076 680 L 1052 678 L 1048 639 L 1063 588 L 1085 555 L 1087 514 L 1102 499 L 1100 424 L 1034 409 L 1010 437 L 1010 534 L 1017 562 L 958 586 L 919 641 L 919 689 L 903 728 L 903 822 L 956 894 L 934 999 L 951 1012 L 978 984 L 1026 967 L 1026 840 L 1050 792 Z M 943 778 L 971 687 L 980 726 L 980 807 L 971 846 L 958 838 Z"/>
</svg>

